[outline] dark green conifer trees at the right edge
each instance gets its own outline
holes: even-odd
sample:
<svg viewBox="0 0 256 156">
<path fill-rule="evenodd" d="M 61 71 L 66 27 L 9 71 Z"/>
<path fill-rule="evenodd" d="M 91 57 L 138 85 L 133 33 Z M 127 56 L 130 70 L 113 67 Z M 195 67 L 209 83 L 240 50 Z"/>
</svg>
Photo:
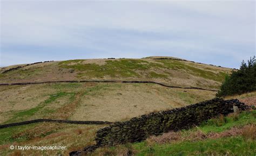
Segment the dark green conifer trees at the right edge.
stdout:
<svg viewBox="0 0 256 156">
<path fill-rule="evenodd" d="M 233 71 L 226 76 L 217 97 L 231 96 L 256 90 L 256 59 L 255 56 L 248 60 L 248 64 L 242 60 L 240 70 Z"/>
</svg>

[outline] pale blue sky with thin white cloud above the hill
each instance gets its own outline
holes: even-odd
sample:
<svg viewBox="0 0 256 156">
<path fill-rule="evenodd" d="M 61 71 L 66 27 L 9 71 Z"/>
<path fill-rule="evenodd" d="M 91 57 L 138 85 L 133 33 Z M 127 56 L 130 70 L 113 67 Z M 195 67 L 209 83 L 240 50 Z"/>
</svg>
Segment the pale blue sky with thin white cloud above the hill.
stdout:
<svg viewBox="0 0 256 156">
<path fill-rule="evenodd" d="M 255 53 L 255 1 L 0 0 L 0 66 L 172 56 L 239 68 Z"/>
</svg>

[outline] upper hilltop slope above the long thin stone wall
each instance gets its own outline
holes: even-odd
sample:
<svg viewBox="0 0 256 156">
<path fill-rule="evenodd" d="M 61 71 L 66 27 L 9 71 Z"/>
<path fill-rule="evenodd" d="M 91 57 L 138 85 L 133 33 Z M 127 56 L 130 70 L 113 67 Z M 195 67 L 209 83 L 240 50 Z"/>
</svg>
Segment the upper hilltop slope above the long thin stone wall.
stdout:
<svg viewBox="0 0 256 156">
<path fill-rule="evenodd" d="M 17 66 L 21 67 L 5 72 Z M 77 59 L 2 67 L 0 83 L 83 79 L 154 80 L 174 86 L 218 89 L 225 74 L 231 71 L 224 67 L 170 57 Z"/>
</svg>

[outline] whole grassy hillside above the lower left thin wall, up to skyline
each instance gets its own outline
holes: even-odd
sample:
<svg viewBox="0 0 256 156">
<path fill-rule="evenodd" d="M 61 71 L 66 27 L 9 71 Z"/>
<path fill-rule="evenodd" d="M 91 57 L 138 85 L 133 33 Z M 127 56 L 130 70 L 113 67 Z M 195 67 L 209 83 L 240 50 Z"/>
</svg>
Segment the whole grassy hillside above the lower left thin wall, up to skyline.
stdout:
<svg viewBox="0 0 256 156">
<path fill-rule="evenodd" d="M 18 67 L 16 70 L 15 67 Z M 24 67 L 23 67 L 24 66 Z M 6 72 L 7 71 L 7 72 Z M 15 65 L 0 83 L 56 80 L 153 80 L 176 86 L 218 88 L 231 69 L 172 57 L 87 59 Z M 215 92 L 156 84 L 56 83 L 1 86 L 0 124 L 50 118 L 119 121 L 212 99 Z"/>
</svg>

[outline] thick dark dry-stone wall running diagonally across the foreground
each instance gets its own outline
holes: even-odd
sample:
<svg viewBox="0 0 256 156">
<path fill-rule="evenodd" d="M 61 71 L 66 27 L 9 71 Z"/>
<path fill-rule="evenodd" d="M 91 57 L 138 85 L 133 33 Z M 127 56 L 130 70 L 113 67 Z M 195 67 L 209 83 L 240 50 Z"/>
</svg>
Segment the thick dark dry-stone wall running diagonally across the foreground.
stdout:
<svg viewBox="0 0 256 156">
<path fill-rule="evenodd" d="M 223 100 L 215 98 L 186 107 L 169 111 L 150 113 L 127 121 L 117 122 L 101 128 L 96 133 L 96 145 L 85 147 L 83 152 L 94 151 L 102 146 L 133 143 L 145 140 L 150 135 L 160 135 L 169 131 L 188 129 L 219 114 L 232 113 L 233 106 L 240 110 L 248 108 L 237 99 Z M 71 152 L 80 155 L 82 151 Z"/>
</svg>

